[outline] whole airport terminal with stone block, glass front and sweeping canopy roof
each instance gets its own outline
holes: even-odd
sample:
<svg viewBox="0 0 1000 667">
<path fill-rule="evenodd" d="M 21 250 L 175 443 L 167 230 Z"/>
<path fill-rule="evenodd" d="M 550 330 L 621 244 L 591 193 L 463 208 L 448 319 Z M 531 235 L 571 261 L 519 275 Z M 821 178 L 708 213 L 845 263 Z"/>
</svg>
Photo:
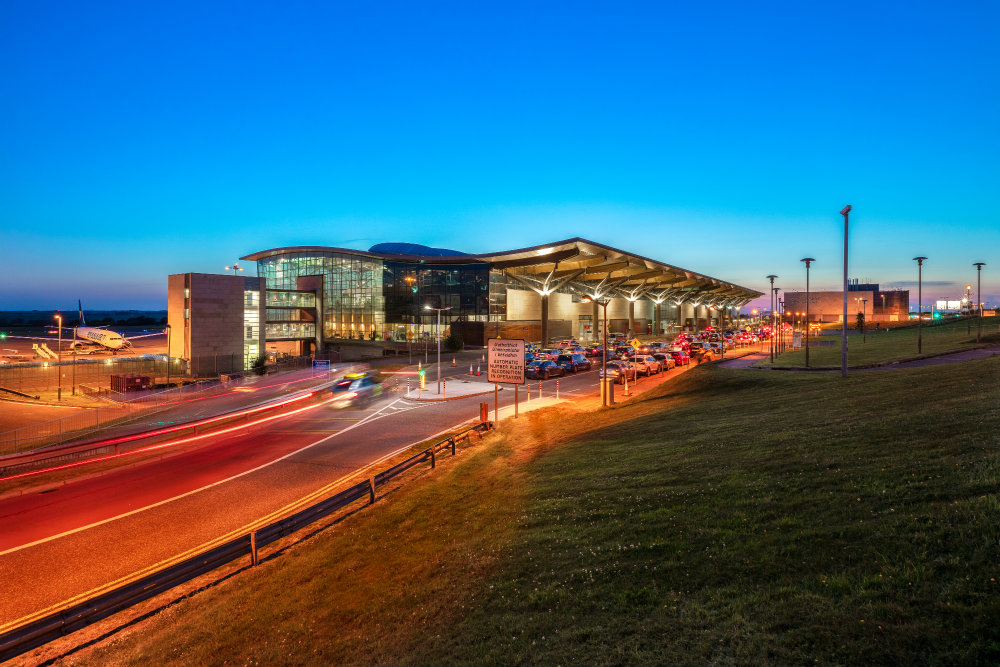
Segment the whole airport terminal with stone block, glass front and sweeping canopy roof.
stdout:
<svg viewBox="0 0 1000 667">
<path fill-rule="evenodd" d="M 171 356 L 239 356 L 245 367 L 264 351 L 347 359 L 449 333 L 468 345 L 498 336 L 592 341 L 603 335 L 595 301 L 607 303 L 609 333 L 672 333 L 721 324 L 761 295 L 580 238 L 478 255 L 383 243 L 241 259 L 257 263 L 257 277 L 169 277 Z"/>
</svg>

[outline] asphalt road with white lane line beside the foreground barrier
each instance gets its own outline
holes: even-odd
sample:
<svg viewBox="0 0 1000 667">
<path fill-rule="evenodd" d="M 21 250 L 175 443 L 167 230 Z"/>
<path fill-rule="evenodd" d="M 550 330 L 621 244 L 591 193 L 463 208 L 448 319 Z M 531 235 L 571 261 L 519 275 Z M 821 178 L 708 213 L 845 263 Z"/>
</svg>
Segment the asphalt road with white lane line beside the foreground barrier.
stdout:
<svg viewBox="0 0 1000 667">
<path fill-rule="evenodd" d="M 452 381 L 460 378 L 470 379 L 454 375 Z M 537 382 L 532 384 L 537 397 Z M 554 380 L 544 384 L 547 394 L 554 391 Z M 560 389 L 572 397 L 593 393 L 596 384 L 590 371 L 561 379 Z M 512 402 L 512 394 L 501 392 L 501 406 Z M 360 411 L 321 404 L 184 445 L 162 459 L 0 498 L 0 580 L 17 591 L 0 596 L 0 623 L 240 531 L 374 461 L 478 417 L 486 398 L 492 396 L 416 402 L 390 395 Z"/>
</svg>

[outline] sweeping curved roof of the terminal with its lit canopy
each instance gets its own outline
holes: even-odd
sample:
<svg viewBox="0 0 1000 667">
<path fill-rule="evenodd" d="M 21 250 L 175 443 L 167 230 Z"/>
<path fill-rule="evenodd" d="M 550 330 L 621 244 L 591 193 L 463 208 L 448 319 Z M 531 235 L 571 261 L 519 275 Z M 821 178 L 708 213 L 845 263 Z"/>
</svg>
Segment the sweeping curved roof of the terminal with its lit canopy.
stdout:
<svg viewBox="0 0 1000 667">
<path fill-rule="evenodd" d="M 387 247 L 388 246 L 388 247 Z M 406 252 L 393 252 L 398 248 Z M 292 246 L 262 250 L 241 257 L 258 261 L 291 253 L 341 253 L 394 261 L 469 264 L 486 262 L 507 277 L 541 294 L 572 289 L 596 298 L 620 296 L 656 303 L 674 301 L 708 306 L 742 306 L 763 292 L 706 276 L 581 238 L 483 254 L 410 254 L 426 248 L 417 244 L 379 244 L 369 251 L 323 246 Z M 376 249 L 378 251 L 376 251 Z M 434 250 L 434 249 L 431 249 Z"/>
</svg>

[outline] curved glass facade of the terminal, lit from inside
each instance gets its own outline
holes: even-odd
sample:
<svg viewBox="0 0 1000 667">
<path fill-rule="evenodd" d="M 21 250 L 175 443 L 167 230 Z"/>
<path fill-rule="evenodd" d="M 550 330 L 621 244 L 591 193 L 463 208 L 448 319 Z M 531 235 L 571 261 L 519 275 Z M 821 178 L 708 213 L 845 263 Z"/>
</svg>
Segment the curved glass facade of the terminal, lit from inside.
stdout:
<svg viewBox="0 0 1000 667">
<path fill-rule="evenodd" d="M 442 329 L 456 320 L 487 322 L 506 313 L 503 276 L 491 274 L 485 263 L 399 262 L 315 251 L 261 258 L 257 272 L 268 290 L 287 291 L 284 296 L 268 292 L 267 321 L 289 324 L 288 331 L 299 326 L 302 337 L 307 337 L 307 326 L 291 324 L 299 319 L 292 313 L 299 312 L 296 306 L 309 306 L 291 299 L 295 290 L 313 285 L 322 285 L 324 339 L 405 341 L 407 332 L 414 337 L 433 335 L 437 313 L 426 310 L 428 305 L 451 308 L 441 313 Z M 279 335 L 277 328 L 272 334 L 270 325 L 266 333 L 268 338 Z"/>
</svg>

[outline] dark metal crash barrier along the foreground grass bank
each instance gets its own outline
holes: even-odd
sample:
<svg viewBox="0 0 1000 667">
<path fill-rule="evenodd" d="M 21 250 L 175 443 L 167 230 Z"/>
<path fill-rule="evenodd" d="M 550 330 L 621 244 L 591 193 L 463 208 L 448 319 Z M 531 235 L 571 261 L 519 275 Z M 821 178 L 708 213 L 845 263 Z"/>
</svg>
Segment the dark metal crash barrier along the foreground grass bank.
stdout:
<svg viewBox="0 0 1000 667">
<path fill-rule="evenodd" d="M 369 477 L 363 482 L 348 487 L 336 495 L 315 505 L 258 528 L 248 535 L 242 535 L 229 540 L 212 549 L 192 556 L 163 570 L 154 572 L 123 584 L 113 590 L 99 593 L 83 602 L 70 605 L 64 609 L 51 612 L 40 618 L 31 616 L 15 621 L 21 623 L 17 627 L 0 628 L 0 662 L 21 655 L 26 651 L 64 637 L 76 630 L 84 628 L 103 618 L 126 609 L 143 600 L 159 595 L 174 586 L 190 581 L 217 567 L 230 563 L 243 556 L 250 557 L 250 565 L 259 562 L 259 550 L 272 542 L 291 535 L 348 505 L 367 498 L 368 503 L 375 502 L 375 492 L 380 487 L 422 463 L 430 461 L 431 467 L 437 465 L 438 452 L 450 450 L 456 453 L 456 444 L 462 440 L 469 441 L 473 434 L 482 434 L 493 428 L 491 422 L 481 422 L 475 426 L 434 443 L 427 449 L 411 456 L 405 461 Z"/>
</svg>

